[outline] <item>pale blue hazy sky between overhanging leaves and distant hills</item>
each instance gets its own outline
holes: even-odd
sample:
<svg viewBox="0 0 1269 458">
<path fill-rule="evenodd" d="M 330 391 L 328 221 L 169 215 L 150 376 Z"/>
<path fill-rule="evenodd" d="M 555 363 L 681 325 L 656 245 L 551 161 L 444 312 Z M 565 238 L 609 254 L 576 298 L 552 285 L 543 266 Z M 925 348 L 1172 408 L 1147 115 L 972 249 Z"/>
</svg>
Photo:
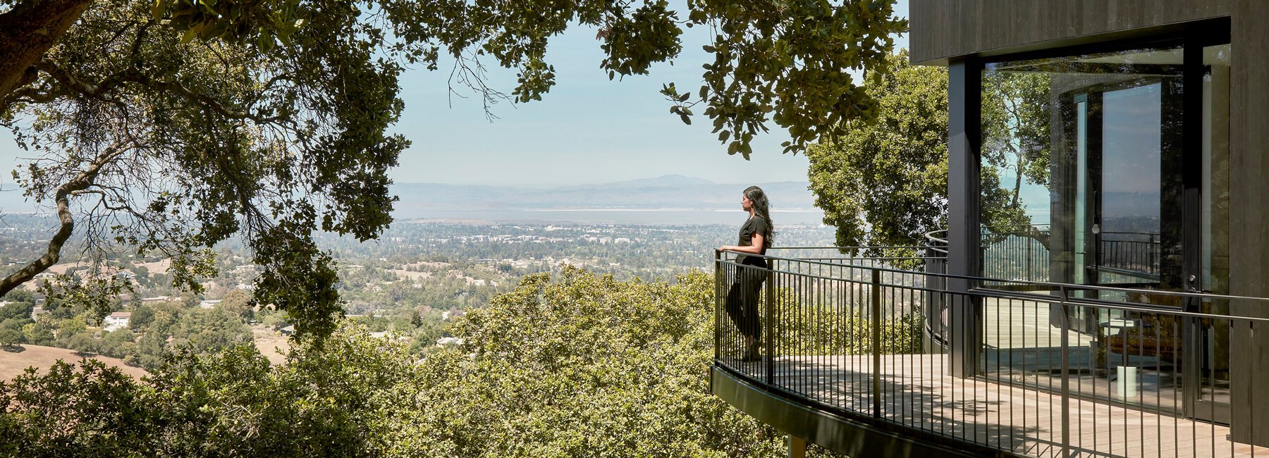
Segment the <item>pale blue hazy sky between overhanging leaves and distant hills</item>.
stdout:
<svg viewBox="0 0 1269 458">
<path fill-rule="evenodd" d="M 907 1 L 898 14 L 907 16 Z M 438 71 L 410 70 L 401 79 L 406 109 L 395 132 L 412 146 L 391 173 L 397 183 L 445 183 L 555 186 L 608 183 L 679 174 L 717 183 L 806 180 L 805 156 L 780 154 L 787 133 L 775 128 L 754 141 L 746 161 L 728 156 L 726 145 L 709 133 L 703 115 L 683 124 L 669 113 L 659 94 L 662 82 L 695 94 L 700 65 L 708 62 L 703 28 L 684 29 L 683 53 L 674 65 L 652 67 L 651 76 L 609 81 L 599 69 L 603 53 L 593 28 L 571 28 L 552 38 L 547 62 L 555 66 L 556 86 L 543 100 L 492 108 L 487 121 L 478 98 L 448 93 L 449 65 Z M 907 46 L 898 37 L 897 47 Z M 491 85 L 509 93 L 515 71 L 487 62 Z M 461 95 L 471 95 L 456 88 Z M 695 109 L 697 113 L 702 108 Z M 0 132 L 0 188 L 13 189 L 8 170 L 22 151 L 8 132 Z"/>
</svg>

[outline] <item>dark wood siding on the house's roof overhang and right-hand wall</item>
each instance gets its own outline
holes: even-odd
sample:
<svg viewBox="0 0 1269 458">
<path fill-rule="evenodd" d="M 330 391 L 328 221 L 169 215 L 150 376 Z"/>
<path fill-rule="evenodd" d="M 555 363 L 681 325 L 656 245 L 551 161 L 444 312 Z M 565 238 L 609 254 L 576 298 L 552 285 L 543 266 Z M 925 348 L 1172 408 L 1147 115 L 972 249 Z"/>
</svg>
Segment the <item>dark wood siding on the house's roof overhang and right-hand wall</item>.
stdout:
<svg viewBox="0 0 1269 458">
<path fill-rule="evenodd" d="M 1180 33 L 1187 22 L 1230 18 L 1230 293 L 1269 297 L 1269 0 L 911 0 L 910 13 L 911 61 L 925 65 Z M 1235 316 L 1269 317 L 1264 303 L 1230 306 Z M 1230 339 L 1239 349 L 1230 360 L 1233 440 L 1269 445 L 1269 322 L 1233 326 Z"/>
</svg>

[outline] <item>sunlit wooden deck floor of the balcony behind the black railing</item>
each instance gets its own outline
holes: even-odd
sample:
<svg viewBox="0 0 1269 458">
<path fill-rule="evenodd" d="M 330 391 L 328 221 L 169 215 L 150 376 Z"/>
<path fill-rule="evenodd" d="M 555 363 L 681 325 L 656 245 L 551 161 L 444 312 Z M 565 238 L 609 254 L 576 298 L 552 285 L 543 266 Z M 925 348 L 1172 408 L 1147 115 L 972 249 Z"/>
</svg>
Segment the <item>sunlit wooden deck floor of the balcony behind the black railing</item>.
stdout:
<svg viewBox="0 0 1269 458">
<path fill-rule="evenodd" d="M 725 360 L 766 382 L 768 362 Z M 1062 398 L 1010 382 L 950 377 L 944 354 L 882 358 L 882 416 L 909 428 L 1034 457 L 1061 457 Z M 777 357 L 774 384 L 824 405 L 873 412 L 872 357 Z M 1016 383 L 1016 382 L 1013 382 Z M 1227 439 L 1228 428 L 1124 401 L 1072 398 L 1071 457 L 1269 457 Z"/>
</svg>

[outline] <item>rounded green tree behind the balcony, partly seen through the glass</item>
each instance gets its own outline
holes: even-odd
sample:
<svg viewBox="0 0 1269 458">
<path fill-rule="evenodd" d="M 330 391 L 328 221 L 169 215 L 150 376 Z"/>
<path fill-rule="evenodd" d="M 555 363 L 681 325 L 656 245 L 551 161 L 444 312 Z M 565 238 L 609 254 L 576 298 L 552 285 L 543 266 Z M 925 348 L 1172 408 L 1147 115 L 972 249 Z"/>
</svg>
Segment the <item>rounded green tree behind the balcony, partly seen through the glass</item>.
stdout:
<svg viewBox="0 0 1269 458">
<path fill-rule="evenodd" d="M 891 72 L 864 88 L 877 100 L 876 122 L 849 121 L 846 136 L 807 150 L 816 207 L 824 209 L 824 222 L 838 228 L 839 246 L 920 245 L 925 232 L 947 227 L 947 70 L 911 66 L 907 60 L 906 51 L 891 56 Z M 999 148 L 986 150 L 986 164 L 1005 165 L 1006 154 L 1014 151 L 1027 176 L 1046 180 L 1048 150 L 1038 145 L 1048 142 L 1047 118 L 1036 110 L 1009 112 L 1001 101 L 1034 99 L 1037 81 L 999 82 L 983 81 L 985 129 L 1001 136 L 1020 126 L 1028 140 L 1014 150 L 1008 141 L 992 143 Z M 1003 186 L 1001 173 L 1003 167 L 982 167 L 983 223 L 1025 225 L 1019 188 Z"/>
</svg>

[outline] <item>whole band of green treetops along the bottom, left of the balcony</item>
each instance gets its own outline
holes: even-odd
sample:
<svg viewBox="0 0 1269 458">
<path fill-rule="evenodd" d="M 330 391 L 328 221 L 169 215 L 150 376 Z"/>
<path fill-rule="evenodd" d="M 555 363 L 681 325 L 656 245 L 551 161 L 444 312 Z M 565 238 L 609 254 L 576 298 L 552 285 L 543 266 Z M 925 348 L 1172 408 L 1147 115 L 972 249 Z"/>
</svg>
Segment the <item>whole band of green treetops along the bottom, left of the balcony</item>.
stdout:
<svg viewBox="0 0 1269 458">
<path fill-rule="evenodd" d="M 58 363 L 0 383 L 0 454 L 783 455 L 782 433 L 708 391 L 712 291 L 702 273 L 623 283 L 566 268 L 467 313 L 452 330 L 466 344 L 421 362 L 345 326 L 280 365 L 251 345 L 184 348 L 142 382 Z"/>
</svg>

